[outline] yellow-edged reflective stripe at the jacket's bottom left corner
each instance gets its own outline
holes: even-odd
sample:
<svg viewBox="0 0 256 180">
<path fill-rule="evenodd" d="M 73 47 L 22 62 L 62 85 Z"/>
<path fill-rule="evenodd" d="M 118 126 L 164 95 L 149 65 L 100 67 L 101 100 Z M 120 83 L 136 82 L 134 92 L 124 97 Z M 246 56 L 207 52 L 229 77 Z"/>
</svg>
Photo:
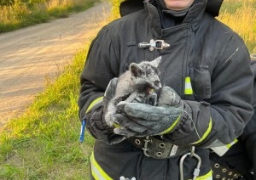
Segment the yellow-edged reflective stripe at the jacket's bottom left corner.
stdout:
<svg viewBox="0 0 256 180">
<path fill-rule="evenodd" d="M 90 168 L 91 174 L 96 180 L 113 180 L 106 172 L 102 170 L 102 167 L 98 165 L 94 158 L 94 153 L 90 155 Z"/>
</svg>

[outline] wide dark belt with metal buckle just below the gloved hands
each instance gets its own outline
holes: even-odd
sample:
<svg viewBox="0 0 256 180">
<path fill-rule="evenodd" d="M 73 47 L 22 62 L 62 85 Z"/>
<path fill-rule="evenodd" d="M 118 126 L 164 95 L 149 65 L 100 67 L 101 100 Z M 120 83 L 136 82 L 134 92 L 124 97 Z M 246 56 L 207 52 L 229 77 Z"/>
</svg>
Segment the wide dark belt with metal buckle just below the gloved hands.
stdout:
<svg viewBox="0 0 256 180">
<path fill-rule="evenodd" d="M 126 140 L 138 149 L 142 149 L 144 155 L 155 159 L 166 159 L 183 155 L 190 150 L 189 146 L 177 146 L 152 136 L 143 138 L 131 137 Z"/>
</svg>

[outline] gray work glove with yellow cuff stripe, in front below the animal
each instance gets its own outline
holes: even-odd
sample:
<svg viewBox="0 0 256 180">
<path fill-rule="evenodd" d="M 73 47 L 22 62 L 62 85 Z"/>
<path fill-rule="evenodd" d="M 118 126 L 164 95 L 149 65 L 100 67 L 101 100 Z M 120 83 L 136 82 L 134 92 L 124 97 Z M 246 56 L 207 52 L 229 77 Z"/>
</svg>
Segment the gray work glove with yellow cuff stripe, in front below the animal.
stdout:
<svg viewBox="0 0 256 180">
<path fill-rule="evenodd" d="M 113 132 L 126 137 L 154 136 L 174 131 L 181 121 L 191 118 L 191 109 L 171 87 L 163 87 L 157 106 L 141 103 L 118 104 L 119 123 Z"/>
</svg>

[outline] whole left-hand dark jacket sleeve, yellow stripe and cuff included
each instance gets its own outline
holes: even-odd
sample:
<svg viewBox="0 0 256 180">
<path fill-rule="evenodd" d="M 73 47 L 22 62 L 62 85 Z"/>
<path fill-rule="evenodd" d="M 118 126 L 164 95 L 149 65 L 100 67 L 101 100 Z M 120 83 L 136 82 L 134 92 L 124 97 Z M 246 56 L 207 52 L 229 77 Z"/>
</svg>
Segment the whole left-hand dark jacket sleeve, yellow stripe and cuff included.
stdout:
<svg viewBox="0 0 256 180">
<path fill-rule="evenodd" d="M 119 75 L 119 62 L 108 35 L 103 27 L 91 42 L 84 70 L 80 76 L 79 118 L 86 121 L 90 134 L 106 143 L 119 142 L 122 137 L 114 135 L 104 121 L 103 96 L 108 82 Z"/>
</svg>

